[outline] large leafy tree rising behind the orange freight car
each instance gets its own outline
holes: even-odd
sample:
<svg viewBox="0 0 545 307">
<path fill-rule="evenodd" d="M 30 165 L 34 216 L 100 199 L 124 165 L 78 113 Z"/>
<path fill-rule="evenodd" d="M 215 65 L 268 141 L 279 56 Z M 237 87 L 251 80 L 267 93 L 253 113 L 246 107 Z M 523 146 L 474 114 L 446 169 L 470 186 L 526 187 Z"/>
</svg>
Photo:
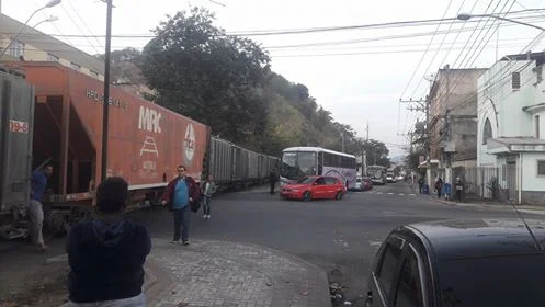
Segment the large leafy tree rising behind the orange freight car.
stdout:
<svg viewBox="0 0 545 307">
<path fill-rule="evenodd" d="M 246 145 L 266 126 L 258 89 L 265 83 L 270 58 L 258 44 L 226 35 L 214 21 L 203 8 L 169 16 L 154 31 L 139 67 L 159 104 Z"/>
</svg>

